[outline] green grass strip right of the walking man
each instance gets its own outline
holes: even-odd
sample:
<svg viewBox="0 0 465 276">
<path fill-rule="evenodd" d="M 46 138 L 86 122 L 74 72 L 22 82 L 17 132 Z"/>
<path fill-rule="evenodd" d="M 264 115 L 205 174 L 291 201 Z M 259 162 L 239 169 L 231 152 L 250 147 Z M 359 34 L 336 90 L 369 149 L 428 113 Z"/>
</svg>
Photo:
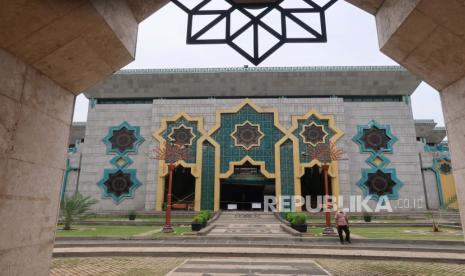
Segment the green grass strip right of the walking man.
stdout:
<svg viewBox="0 0 465 276">
<path fill-rule="evenodd" d="M 441 227 L 433 232 L 432 227 L 352 227 L 351 232 L 371 239 L 400 240 L 463 240 L 462 231 Z"/>
</svg>

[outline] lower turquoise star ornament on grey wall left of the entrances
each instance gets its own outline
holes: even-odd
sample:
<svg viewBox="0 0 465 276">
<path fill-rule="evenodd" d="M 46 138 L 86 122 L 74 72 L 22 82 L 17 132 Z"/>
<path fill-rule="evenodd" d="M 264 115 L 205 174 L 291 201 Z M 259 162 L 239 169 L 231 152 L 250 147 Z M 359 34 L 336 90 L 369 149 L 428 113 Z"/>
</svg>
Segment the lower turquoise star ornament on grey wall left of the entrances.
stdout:
<svg viewBox="0 0 465 276">
<path fill-rule="evenodd" d="M 135 169 L 105 169 L 104 177 L 97 185 L 103 190 L 104 198 L 112 198 L 119 204 L 123 199 L 133 198 L 141 183 L 136 178 Z"/>
</svg>

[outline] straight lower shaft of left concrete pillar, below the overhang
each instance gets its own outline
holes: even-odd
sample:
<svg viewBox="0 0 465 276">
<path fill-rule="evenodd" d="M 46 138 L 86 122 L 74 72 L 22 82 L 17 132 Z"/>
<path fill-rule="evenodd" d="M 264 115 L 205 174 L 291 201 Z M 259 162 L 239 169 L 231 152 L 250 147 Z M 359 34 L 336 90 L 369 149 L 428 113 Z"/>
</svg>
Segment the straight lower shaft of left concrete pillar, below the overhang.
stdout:
<svg viewBox="0 0 465 276">
<path fill-rule="evenodd" d="M 0 49 L 2 275 L 48 275 L 73 102 Z"/>
</svg>

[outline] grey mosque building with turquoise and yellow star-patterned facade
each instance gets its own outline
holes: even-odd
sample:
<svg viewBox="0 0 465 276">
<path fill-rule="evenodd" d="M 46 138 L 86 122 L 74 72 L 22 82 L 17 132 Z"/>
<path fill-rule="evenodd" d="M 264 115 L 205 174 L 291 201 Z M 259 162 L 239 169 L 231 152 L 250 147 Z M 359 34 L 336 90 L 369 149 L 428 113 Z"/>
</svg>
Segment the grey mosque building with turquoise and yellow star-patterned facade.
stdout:
<svg viewBox="0 0 465 276">
<path fill-rule="evenodd" d="M 396 66 L 119 71 L 85 92 L 62 196 L 92 196 L 97 212 L 162 211 L 173 163 L 179 210 L 292 195 L 313 207 L 325 171 L 334 196 L 456 208 L 446 130 L 413 118 L 420 82 Z M 172 148 L 182 158 L 160 158 Z"/>
</svg>

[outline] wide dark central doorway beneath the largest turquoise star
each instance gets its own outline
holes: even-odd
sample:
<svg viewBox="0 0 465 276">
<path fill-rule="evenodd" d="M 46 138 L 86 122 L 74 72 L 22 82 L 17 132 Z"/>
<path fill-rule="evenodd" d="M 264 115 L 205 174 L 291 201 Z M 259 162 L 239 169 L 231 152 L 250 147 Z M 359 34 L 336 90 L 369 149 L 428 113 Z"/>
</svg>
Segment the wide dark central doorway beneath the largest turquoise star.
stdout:
<svg viewBox="0 0 465 276">
<path fill-rule="evenodd" d="M 275 195 L 274 184 L 274 179 L 260 173 L 259 166 L 250 163 L 237 166 L 231 177 L 221 180 L 220 209 L 231 210 L 233 207 L 234 210 L 235 206 L 237 210 L 263 210 L 263 197 Z"/>
</svg>

